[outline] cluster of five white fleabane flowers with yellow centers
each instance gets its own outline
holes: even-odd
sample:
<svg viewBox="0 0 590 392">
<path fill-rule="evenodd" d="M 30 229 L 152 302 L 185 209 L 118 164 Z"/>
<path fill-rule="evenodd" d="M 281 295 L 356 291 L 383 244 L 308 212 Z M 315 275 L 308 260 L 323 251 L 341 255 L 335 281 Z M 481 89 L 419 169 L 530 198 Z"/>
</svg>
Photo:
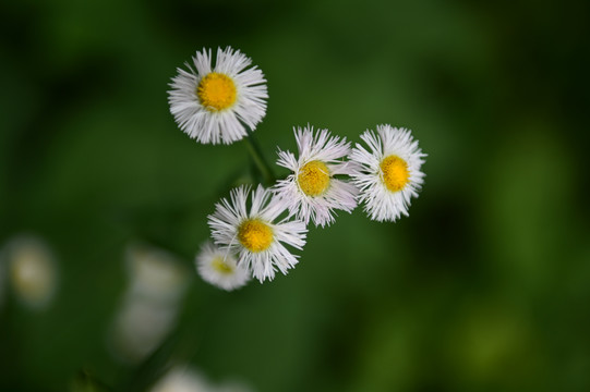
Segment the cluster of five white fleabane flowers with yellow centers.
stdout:
<svg viewBox="0 0 590 392">
<path fill-rule="evenodd" d="M 178 70 L 169 91 L 170 111 L 180 128 L 200 143 L 231 144 L 253 132 L 266 113 L 266 81 L 252 61 L 231 48 L 196 52 L 194 69 Z M 297 155 L 278 150 L 290 174 L 269 187 L 240 186 L 215 205 L 208 217 L 214 244 L 196 257 L 202 278 L 224 290 L 251 277 L 273 280 L 298 264 L 308 224 L 325 228 L 337 211 L 362 204 L 370 219 L 394 222 L 408 216 L 423 184 L 425 155 L 410 131 L 377 125 L 353 147 L 328 130 L 296 127 Z"/>
</svg>

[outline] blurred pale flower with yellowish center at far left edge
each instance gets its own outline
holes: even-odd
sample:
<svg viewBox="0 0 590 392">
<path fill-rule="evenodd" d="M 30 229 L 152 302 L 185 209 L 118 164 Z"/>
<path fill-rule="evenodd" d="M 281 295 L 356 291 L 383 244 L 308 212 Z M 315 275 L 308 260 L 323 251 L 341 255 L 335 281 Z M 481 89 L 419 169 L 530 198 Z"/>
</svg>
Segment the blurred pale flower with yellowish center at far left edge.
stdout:
<svg viewBox="0 0 590 392">
<path fill-rule="evenodd" d="M 15 296 L 33 309 L 46 307 L 58 284 L 56 260 L 38 237 L 20 236 L 4 249 L 8 277 Z"/>
</svg>

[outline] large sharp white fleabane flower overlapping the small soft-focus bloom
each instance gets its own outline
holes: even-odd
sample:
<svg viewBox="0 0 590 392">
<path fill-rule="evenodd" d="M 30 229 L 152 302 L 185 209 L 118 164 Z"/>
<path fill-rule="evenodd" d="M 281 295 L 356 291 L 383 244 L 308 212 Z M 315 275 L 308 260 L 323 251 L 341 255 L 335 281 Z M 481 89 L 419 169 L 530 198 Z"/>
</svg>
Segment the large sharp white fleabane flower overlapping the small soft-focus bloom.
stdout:
<svg viewBox="0 0 590 392">
<path fill-rule="evenodd" d="M 305 223 L 287 218 L 275 220 L 287 209 L 278 197 L 258 185 L 252 192 L 252 205 L 246 207 L 250 187 L 231 192 L 230 201 L 221 199 L 208 217 L 212 236 L 224 250 L 238 255 L 238 265 L 252 271 L 261 281 L 273 280 L 278 269 L 284 274 L 298 262 L 284 244 L 301 249 L 305 244 Z"/>
</svg>

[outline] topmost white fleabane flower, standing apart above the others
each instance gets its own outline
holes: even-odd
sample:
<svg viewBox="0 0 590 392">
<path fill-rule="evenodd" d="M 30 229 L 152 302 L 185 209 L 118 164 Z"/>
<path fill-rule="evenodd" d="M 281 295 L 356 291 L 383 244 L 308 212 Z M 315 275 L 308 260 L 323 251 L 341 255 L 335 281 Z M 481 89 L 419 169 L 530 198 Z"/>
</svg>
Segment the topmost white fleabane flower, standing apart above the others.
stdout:
<svg viewBox="0 0 590 392">
<path fill-rule="evenodd" d="M 244 137 L 245 126 L 254 131 L 266 114 L 266 79 L 252 60 L 231 48 L 217 49 L 212 69 L 212 51 L 193 57 L 189 71 L 178 75 L 168 91 L 170 112 L 180 128 L 200 143 L 231 144 Z M 245 126 L 244 126 L 245 125 Z"/>
</svg>

